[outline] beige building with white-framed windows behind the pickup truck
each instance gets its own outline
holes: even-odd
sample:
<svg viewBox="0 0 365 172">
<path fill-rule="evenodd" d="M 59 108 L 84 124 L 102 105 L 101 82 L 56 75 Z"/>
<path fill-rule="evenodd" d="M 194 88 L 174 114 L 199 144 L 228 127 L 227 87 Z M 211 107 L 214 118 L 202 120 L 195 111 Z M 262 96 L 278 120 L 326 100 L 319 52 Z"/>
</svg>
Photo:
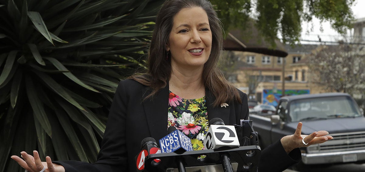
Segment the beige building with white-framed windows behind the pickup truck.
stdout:
<svg viewBox="0 0 365 172">
<path fill-rule="evenodd" d="M 319 86 L 310 82 L 311 74 L 306 63 L 308 55 L 316 50 L 318 45 L 303 44 L 296 47 L 287 45 L 285 48 L 288 51 L 288 56 L 285 58 L 234 51 L 239 63 L 236 64 L 235 77 L 230 80 L 236 87 L 247 93 L 249 98 L 257 99 L 261 103 L 264 102 L 263 96 L 268 90 L 281 93 L 283 69 L 285 90 L 292 90 L 288 94 L 293 93 L 293 90 L 300 92 L 299 94 L 306 91 L 310 94 L 324 92 Z"/>
</svg>

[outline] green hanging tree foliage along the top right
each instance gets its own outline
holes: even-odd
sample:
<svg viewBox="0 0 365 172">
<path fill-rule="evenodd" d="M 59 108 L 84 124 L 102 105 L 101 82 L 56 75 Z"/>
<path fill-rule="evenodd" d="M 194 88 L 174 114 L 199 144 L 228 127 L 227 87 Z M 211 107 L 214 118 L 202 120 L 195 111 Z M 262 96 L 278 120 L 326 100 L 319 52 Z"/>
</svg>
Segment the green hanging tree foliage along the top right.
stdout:
<svg viewBox="0 0 365 172">
<path fill-rule="evenodd" d="M 355 0 L 211 0 L 224 23 L 226 31 L 245 31 L 247 21 L 253 20 L 267 41 L 274 44 L 280 35 L 283 43 L 295 44 L 301 36 L 301 22 L 330 21 L 340 34 L 351 27 Z M 255 8 L 255 9 L 254 9 Z"/>
</svg>

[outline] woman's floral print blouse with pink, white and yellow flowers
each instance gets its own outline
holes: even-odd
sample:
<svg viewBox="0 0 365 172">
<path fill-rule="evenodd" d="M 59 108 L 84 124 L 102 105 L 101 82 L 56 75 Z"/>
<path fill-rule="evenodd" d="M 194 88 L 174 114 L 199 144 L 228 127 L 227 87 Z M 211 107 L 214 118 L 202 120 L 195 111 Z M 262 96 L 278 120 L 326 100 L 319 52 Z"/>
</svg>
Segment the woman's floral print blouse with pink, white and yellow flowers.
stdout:
<svg viewBox="0 0 365 172">
<path fill-rule="evenodd" d="M 193 150 L 204 150 L 203 140 L 208 132 L 208 112 L 205 96 L 183 99 L 170 91 L 168 126 L 175 126 L 190 139 Z"/>
</svg>

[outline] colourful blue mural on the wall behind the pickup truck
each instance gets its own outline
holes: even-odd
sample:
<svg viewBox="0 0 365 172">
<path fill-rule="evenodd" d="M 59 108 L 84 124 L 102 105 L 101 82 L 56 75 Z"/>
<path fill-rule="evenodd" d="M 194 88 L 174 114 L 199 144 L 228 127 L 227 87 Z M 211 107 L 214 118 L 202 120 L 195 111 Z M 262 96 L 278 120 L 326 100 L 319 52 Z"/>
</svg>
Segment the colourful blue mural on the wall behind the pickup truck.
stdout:
<svg viewBox="0 0 365 172">
<path fill-rule="evenodd" d="M 310 94 L 309 90 L 285 90 L 285 95 Z M 280 97 L 283 95 L 281 90 L 264 89 L 262 93 L 262 103 L 277 106 Z"/>
</svg>

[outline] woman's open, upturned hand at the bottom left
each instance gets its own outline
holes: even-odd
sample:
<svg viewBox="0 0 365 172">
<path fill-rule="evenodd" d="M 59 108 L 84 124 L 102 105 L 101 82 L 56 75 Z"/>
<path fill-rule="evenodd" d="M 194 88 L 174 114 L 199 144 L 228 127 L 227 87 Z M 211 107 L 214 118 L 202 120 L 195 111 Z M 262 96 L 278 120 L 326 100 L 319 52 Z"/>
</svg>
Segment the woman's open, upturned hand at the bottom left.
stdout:
<svg viewBox="0 0 365 172">
<path fill-rule="evenodd" d="M 15 160 L 28 172 L 40 172 L 44 167 L 46 167 L 45 172 L 65 172 L 65 168 L 62 165 L 52 163 L 49 156 L 46 157 L 46 162 L 42 162 L 36 150 L 33 151 L 33 156 L 28 155 L 24 151 L 20 152 L 20 154 L 24 160 L 16 155 L 11 156 L 11 159 Z"/>
</svg>

